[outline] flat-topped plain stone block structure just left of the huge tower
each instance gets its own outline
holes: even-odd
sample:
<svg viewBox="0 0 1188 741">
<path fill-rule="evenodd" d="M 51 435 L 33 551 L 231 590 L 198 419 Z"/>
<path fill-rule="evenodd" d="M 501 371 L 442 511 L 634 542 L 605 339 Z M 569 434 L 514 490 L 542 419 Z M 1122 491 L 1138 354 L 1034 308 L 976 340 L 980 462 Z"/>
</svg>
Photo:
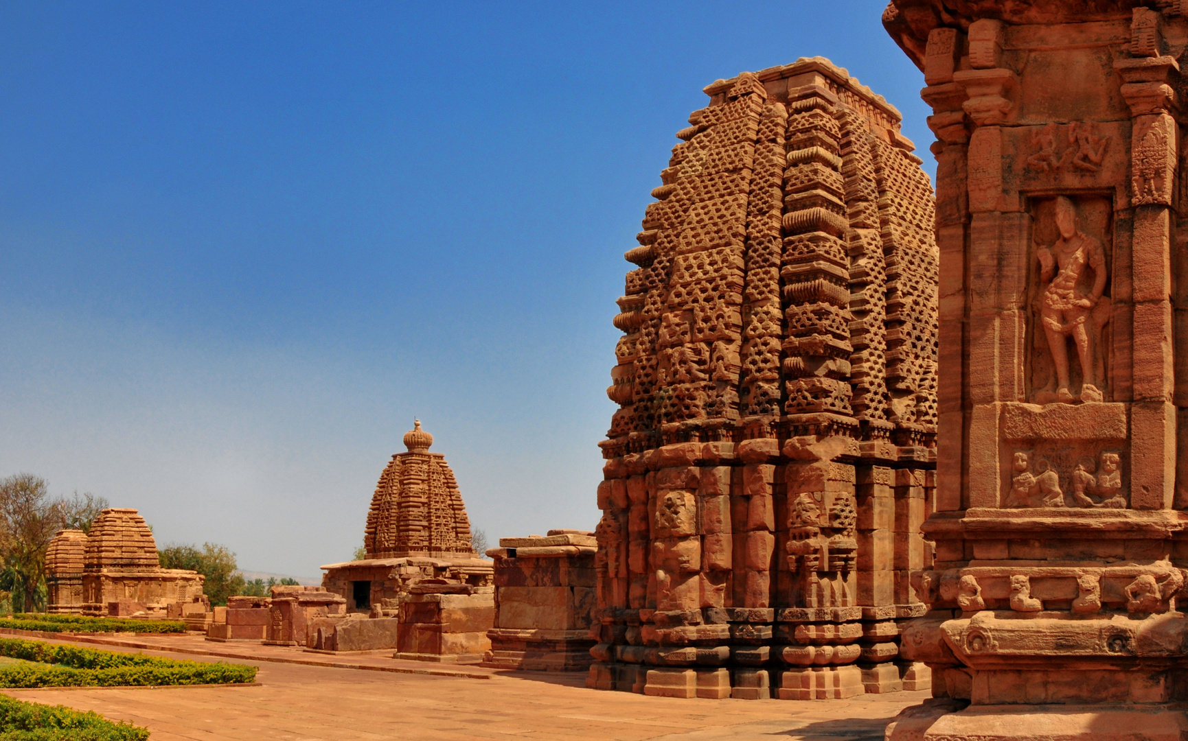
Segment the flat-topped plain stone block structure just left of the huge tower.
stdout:
<svg viewBox="0 0 1188 741">
<path fill-rule="evenodd" d="M 550 530 L 543 538 L 500 538 L 495 560 L 495 627 L 484 666 L 586 671 L 596 604 L 594 533 Z"/>
</svg>

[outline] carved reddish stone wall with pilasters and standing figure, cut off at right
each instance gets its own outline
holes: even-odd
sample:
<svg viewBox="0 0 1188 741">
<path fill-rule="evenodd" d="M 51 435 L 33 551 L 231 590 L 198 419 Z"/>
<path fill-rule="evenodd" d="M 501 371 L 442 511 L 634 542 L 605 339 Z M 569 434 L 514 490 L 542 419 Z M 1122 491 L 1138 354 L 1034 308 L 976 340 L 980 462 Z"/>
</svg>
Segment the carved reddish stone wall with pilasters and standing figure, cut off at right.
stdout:
<svg viewBox="0 0 1188 741">
<path fill-rule="evenodd" d="M 931 612 L 890 739 L 1181 739 L 1188 6 L 893 0 L 941 255 Z M 962 707 L 968 708 L 960 710 Z M 960 710 L 960 711 L 959 711 Z"/>
</svg>

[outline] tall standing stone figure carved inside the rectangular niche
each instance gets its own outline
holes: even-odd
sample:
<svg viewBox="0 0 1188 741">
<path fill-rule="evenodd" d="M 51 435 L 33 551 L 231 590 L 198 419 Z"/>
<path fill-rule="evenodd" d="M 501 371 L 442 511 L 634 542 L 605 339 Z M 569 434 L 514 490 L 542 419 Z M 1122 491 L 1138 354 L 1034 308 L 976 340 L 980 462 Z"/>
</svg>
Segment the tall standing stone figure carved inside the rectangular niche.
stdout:
<svg viewBox="0 0 1188 741">
<path fill-rule="evenodd" d="M 1040 247 L 1040 280 L 1043 294 L 1040 302 L 1040 319 L 1048 337 L 1048 348 L 1056 366 L 1057 387 L 1053 393 L 1044 390 L 1037 395 L 1042 404 L 1076 400 L 1069 391 L 1068 343 L 1072 337 L 1081 362 L 1082 401 L 1101 401 L 1098 388 L 1097 362 L 1093 340 L 1093 309 L 1101 300 L 1106 287 L 1106 258 L 1101 242 L 1078 228 L 1076 207 L 1064 196 L 1056 198 L 1056 227 L 1060 239 L 1051 247 Z M 1092 277 L 1093 285 L 1085 284 Z"/>
</svg>

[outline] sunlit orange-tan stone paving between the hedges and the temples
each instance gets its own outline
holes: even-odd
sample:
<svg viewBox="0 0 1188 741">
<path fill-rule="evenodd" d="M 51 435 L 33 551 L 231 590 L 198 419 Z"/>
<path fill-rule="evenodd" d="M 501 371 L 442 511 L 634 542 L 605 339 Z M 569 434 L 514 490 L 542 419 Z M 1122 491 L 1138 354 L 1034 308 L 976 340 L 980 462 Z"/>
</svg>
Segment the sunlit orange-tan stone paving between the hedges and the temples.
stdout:
<svg viewBox="0 0 1188 741">
<path fill-rule="evenodd" d="M 587 690 L 583 677 L 574 673 L 426 665 L 383 654 L 343 658 L 276 646 L 211 644 L 192 636 L 103 642 L 171 647 L 146 653 L 196 660 L 219 660 L 195 653 L 207 647 L 251 656 L 247 663 L 260 666 L 259 684 L 5 694 L 147 726 L 153 741 L 881 741 L 896 712 L 928 696 L 899 692 L 815 702 L 672 699 Z M 386 670 L 360 671 L 380 667 Z"/>
</svg>

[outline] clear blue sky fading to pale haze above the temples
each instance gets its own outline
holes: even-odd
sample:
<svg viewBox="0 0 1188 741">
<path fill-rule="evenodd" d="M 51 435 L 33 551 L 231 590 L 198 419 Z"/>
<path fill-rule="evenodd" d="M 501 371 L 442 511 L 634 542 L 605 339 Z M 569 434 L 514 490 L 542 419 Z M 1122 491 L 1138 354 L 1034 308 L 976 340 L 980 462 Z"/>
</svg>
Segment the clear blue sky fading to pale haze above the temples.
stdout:
<svg viewBox="0 0 1188 741">
<path fill-rule="evenodd" d="M 315 576 L 413 416 L 499 537 L 593 528 L 611 325 L 701 88 L 881 0 L 0 4 L 0 475 Z"/>
</svg>

